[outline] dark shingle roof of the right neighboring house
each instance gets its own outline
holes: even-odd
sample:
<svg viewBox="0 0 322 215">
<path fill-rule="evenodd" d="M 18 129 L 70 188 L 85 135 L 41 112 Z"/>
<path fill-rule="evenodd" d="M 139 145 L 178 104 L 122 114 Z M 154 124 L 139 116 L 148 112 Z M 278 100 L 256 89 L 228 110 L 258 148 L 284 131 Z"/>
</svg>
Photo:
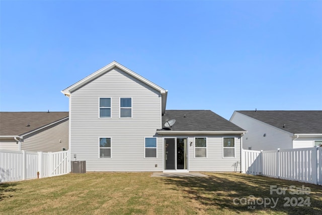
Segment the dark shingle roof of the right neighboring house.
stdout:
<svg viewBox="0 0 322 215">
<path fill-rule="evenodd" d="M 236 111 L 291 133 L 322 133 L 322 111 Z M 285 124 L 285 127 L 283 125 Z"/>
</svg>

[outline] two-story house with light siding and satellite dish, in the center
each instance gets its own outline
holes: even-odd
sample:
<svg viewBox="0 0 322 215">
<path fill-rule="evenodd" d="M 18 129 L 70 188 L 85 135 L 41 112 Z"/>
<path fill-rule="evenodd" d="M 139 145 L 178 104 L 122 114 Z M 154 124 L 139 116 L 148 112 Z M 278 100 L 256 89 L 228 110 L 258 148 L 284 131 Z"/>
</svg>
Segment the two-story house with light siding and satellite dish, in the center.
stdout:
<svg viewBox="0 0 322 215">
<path fill-rule="evenodd" d="M 115 61 L 62 93 L 70 157 L 87 171 L 234 171 L 240 162 L 244 129 L 209 110 L 166 110 L 167 90 Z"/>
</svg>

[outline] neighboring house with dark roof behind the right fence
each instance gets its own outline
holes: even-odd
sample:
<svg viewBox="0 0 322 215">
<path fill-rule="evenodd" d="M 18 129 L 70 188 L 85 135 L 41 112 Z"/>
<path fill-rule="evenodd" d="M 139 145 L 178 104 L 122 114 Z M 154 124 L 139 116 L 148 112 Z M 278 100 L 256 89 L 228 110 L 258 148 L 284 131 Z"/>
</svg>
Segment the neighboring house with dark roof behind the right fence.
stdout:
<svg viewBox="0 0 322 215">
<path fill-rule="evenodd" d="M 322 111 L 234 111 L 230 121 L 248 131 L 243 138 L 246 150 L 322 144 Z"/>
</svg>

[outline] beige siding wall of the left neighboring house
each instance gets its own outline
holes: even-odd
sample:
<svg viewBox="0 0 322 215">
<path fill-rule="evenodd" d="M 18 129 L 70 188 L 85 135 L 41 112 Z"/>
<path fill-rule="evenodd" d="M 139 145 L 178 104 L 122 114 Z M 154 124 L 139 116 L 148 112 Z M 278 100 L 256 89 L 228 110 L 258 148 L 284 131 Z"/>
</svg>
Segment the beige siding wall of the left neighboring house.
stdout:
<svg viewBox="0 0 322 215">
<path fill-rule="evenodd" d="M 59 141 L 60 140 L 60 141 Z M 23 137 L 21 150 L 59 152 L 68 150 L 68 119 Z"/>
</svg>

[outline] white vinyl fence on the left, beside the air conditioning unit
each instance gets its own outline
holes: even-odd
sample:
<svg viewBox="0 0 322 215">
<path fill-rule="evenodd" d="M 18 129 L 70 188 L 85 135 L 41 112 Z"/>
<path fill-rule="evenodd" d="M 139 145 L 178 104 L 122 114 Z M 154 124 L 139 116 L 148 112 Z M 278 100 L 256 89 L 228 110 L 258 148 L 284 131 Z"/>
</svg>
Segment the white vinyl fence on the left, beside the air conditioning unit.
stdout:
<svg viewBox="0 0 322 215">
<path fill-rule="evenodd" d="M 52 177 L 69 173 L 68 151 L 44 153 L 0 151 L 0 182 Z"/>
</svg>

